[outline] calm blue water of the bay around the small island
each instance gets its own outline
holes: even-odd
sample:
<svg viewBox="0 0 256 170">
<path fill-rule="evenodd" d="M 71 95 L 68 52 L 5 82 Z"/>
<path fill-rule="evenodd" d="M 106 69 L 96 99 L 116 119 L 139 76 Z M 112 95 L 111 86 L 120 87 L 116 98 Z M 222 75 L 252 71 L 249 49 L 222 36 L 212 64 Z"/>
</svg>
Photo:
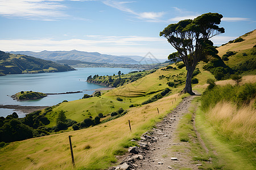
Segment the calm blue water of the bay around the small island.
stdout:
<svg viewBox="0 0 256 170">
<path fill-rule="evenodd" d="M 51 106 L 62 102 L 63 100 L 81 99 L 84 94 L 91 95 L 96 88 L 102 88 L 97 84 L 85 82 L 89 75 L 117 75 L 120 70 L 126 74 L 132 69 L 122 68 L 76 68 L 76 71 L 67 71 L 60 73 L 39 73 L 39 74 L 13 74 L 0 76 L 0 104 L 7 105 L 27 105 L 27 106 Z M 84 91 L 79 94 L 48 95 L 43 99 L 31 101 L 16 101 L 10 96 L 20 91 L 36 91 L 43 93 L 60 93 L 68 91 Z M 0 117 L 6 117 L 13 113 L 12 109 L 1 109 Z M 16 112 L 16 111 L 15 111 Z M 17 112 L 18 113 L 18 112 Z M 19 117 L 24 117 L 23 113 L 18 113 Z"/>
</svg>

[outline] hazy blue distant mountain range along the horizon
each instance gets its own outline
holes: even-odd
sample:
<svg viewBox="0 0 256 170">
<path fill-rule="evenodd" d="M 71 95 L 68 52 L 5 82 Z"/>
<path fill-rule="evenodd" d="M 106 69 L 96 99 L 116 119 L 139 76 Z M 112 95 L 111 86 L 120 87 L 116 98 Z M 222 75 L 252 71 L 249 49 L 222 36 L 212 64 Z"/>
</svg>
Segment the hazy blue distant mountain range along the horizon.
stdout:
<svg viewBox="0 0 256 170">
<path fill-rule="evenodd" d="M 151 57 L 152 54 L 148 55 L 151 58 L 141 56 L 113 56 L 109 54 L 101 54 L 98 52 L 81 52 L 78 50 L 71 51 L 47 51 L 42 52 L 30 52 L 30 51 L 11 51 L 11 54 L 24 54 L 41 59 L 48 59 L 51 61 L 69 59 L 69 60 L 80 60 L 84 62 L 97 62 L 97 63 L 159 63 L 164 62 L 167 59 L 156 59 Z"/>
</svg>

